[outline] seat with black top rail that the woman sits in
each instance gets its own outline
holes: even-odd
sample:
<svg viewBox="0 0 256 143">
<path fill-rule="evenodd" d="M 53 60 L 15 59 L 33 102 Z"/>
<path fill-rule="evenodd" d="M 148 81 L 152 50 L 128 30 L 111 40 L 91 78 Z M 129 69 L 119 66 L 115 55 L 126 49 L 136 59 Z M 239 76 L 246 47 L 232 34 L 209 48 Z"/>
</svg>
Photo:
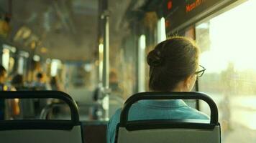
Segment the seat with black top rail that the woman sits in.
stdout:
<svg viewBox="0 0 256 143">
<path fill-rule="evenodd" d="M 209 104 L 209 120 L 157 119 L 128 121 L 132 104 L 147 99 L 200 99 Z M 144 92 L 127 99 L 116 127 L 116 143 L 219 143 L 221 130 L 214 101 L 201 92 Z"/>
</svg>

